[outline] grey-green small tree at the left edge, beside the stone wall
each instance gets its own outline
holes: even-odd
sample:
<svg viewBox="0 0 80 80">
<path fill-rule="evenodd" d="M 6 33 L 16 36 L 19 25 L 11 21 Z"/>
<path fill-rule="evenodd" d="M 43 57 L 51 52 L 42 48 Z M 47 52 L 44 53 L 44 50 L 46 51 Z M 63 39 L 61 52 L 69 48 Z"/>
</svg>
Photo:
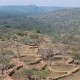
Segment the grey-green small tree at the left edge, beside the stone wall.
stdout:
<svg viewBox="0 0 80 80">
<path fill-rule="evenodd" d="M 1 72 L 2 75 L 4 74 L 4 70 L 8 69 L 8 66 L 10 65 L 10 60 L 13 58 L 13 52 L 11 51 L 5 51 L 0 53 L 0 63 L 2 64 Z"/>
</svg>

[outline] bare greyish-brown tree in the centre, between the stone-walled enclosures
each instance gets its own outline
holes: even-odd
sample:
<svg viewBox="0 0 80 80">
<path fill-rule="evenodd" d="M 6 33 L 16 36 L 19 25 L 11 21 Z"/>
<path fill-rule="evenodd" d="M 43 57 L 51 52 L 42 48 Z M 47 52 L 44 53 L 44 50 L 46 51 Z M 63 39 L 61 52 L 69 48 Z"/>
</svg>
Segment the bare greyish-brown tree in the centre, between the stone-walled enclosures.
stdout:
<svg viewBox="0 0 80 80">
<path fill-rule="evenodd" d="M 53 56 L 53 47 L 50 43 L 42 43 L 38 48 L 38 54 L 41 55 L 41 58 L 46 60 L 50 59 Z"/>
</svg>

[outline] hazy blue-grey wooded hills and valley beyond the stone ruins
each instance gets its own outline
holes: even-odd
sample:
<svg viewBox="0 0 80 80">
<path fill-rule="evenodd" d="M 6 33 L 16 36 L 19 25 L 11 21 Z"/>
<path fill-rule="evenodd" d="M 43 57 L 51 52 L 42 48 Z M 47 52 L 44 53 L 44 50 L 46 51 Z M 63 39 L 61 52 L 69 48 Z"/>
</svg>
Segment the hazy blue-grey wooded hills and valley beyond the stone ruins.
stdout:
<svg viewBox="0 0 80 80">
<path fill-rule="evenodd" d="M 35 30 L 53 36 L 54 41 L 79 45 L 80 9 L 35 5 L 3 6 L 0 7 L 0 28 L 4 32 L 10 28 Z"/>
</svg>

